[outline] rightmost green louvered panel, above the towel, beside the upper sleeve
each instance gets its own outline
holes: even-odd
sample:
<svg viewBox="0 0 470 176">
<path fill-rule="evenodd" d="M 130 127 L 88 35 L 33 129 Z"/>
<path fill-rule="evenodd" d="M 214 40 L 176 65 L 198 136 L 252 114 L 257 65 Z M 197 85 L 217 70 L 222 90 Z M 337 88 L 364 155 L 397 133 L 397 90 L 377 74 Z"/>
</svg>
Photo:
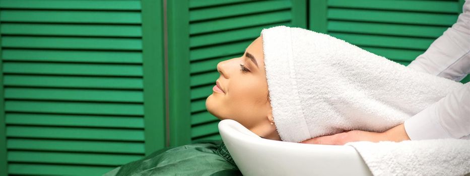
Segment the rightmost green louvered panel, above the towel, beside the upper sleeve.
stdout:
<svg viewBox="0 0 470 176">
<path fill-rule="evenodd" d="M 309 28 L 408 65 L 456 22 L 463 2 L 310 0 Z"/>
</svg>

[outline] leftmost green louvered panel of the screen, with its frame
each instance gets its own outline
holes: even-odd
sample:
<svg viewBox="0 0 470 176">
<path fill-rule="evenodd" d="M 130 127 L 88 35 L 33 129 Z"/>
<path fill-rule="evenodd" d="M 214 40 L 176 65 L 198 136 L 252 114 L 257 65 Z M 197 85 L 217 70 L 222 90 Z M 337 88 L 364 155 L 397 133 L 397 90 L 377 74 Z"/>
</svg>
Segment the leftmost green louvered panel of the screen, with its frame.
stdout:
<svg viewBox="0 0 470 176">
<path fill-rule="evenodd" d="M 0 1 L 6 122 L 0 129 L 6 128 L 9 174 L 99 175 L 163 147 L 147 141 L 163 144 L 163 133 L 145 129 L 155 119 L 163 124 L 164 112 L 144 118 L 144 97 L 164 100 L 164 93 L 155 87 L 144 93 L 144 85 L 162 85 L 163 76 L 143 78 L 145 55 L 159 54 L 143 52 L 141 7 L 141 1 Z M 163 55 L 155 47 L 147 49 Z"/>
</svg>

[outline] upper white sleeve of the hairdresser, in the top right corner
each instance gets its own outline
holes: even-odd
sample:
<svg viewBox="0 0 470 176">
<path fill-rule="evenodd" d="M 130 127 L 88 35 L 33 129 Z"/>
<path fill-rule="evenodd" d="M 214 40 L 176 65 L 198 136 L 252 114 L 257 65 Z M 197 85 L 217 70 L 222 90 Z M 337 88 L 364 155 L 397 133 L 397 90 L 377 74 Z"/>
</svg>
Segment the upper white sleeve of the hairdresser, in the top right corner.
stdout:
<svg viewBox="0 0 470 176">
<path fill-rule="evenodd" d="M 457 22 L 408 67 L 455 81 L 470 72 L 470 0 L 465 1 Z"/>
</svg>

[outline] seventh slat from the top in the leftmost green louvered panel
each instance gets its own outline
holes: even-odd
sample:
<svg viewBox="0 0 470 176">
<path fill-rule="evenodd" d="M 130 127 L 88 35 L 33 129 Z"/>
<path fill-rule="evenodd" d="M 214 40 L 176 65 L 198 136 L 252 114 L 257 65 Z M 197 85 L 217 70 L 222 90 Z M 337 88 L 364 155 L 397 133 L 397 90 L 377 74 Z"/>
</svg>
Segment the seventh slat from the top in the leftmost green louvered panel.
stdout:
<svg viewBox="0 0 470 176">
<path fill-rule="evenodd" d="M 92 89 L 143 89 L 142 78 L 4 75 L 7 86 L 72 87 Z"/>
</svg>

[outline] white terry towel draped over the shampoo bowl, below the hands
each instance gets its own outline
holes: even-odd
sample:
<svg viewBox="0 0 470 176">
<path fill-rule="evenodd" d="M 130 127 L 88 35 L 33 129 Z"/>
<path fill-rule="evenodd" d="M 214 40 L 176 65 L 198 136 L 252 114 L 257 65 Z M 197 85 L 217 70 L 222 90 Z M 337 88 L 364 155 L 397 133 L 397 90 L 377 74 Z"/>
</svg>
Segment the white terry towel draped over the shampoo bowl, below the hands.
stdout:
<svg viewBox="0 0 470 176">
<path fill-rule="evenodd" d="M 349 142 L 373 175 L 463 175 L 470 172 L 470 140 Z"/>
</svg>

